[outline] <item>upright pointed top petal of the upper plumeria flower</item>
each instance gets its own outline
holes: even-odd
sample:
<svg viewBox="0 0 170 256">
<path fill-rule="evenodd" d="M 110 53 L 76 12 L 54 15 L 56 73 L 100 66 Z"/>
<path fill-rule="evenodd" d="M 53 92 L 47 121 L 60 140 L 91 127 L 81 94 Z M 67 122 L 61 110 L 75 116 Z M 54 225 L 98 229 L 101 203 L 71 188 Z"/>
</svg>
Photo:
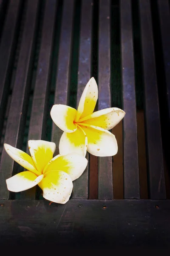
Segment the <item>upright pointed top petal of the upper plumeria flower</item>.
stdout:
<svg viewBox="0 0 170 256">
<path fill-rule="evenodd" d="M 85 89 L 80 98 L 79 106 L 77 109 L 76 122 L 78 122 L 80 118 L 83 118 L 93 113 L 97 99 L 98 88 L 96 80 L 94 79 L 94 77 L 92 77 L 85 86 Z"/>
</svg>

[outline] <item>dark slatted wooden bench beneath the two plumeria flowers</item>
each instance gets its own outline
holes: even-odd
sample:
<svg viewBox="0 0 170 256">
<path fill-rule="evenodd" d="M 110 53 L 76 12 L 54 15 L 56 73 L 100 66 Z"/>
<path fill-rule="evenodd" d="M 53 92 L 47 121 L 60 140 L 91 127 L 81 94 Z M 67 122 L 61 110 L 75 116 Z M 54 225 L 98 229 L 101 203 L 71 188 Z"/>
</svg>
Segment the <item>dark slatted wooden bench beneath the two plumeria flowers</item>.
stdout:
<svg viewBox="0 0 170 256">
<path fill-rule="evenodd" d="M 170 247 L 169 31 L 168 0 L 0 0 L 0 244 Z M 3 143 L 28 152 L 29 139 L 51 140 L 57 154 L 51 107 L 76 107 L 91 76 L 98 110 L 126 112 L 118 154 L 87 154 L 64 205 L 9 192 L 20 166 Z"/>
</svg>

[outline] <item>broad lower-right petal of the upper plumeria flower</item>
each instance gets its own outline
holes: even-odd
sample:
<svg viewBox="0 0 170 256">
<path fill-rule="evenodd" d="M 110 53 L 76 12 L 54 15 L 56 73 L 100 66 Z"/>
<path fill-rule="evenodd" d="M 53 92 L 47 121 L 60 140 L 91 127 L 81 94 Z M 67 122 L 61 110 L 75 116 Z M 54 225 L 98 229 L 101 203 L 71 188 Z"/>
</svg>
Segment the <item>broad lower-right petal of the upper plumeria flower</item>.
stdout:
<svg viewBox="0 0 170 256">
<path fill-rule="evenodd" d="M 88 152 L 97 157 L 114 156 L 117 153 L 117 141 L 110 131 L 97 126 L 81 124 L 88 137 Z"/>
</svg>

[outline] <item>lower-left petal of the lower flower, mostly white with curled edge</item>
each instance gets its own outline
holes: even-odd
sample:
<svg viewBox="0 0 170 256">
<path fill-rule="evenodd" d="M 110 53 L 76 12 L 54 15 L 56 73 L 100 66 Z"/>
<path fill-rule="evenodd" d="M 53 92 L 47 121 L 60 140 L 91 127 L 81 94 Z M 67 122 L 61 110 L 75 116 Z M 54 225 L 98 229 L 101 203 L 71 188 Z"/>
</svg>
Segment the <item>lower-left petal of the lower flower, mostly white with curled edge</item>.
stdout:
<svg viewBox="0 0 170 256">
<path fill-rule="evenodd" d="M 36 186 L 43 179 L 43 177 L 44 175 L 37 177 L 37 175 L 30 171 L 20 172 L 7 179 L 6 184 L 9 191 L 21 192 Z"/>
</svg>

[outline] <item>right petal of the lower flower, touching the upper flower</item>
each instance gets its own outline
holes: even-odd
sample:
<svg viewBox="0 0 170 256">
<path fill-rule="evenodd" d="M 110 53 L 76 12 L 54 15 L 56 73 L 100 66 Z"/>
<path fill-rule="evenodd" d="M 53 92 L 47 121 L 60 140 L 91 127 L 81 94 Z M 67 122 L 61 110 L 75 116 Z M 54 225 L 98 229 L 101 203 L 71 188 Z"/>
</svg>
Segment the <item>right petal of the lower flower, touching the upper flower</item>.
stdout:
<svg viewBox="0 0 170 256">
<path fill-rule="evenodd" d="M 70 175 L 71 180 L 78 179 L 84 172 L 88 160 L 78 154 L 57 155 L 45 167 L 43 173 L 62 170 Z"/>
</svg>

